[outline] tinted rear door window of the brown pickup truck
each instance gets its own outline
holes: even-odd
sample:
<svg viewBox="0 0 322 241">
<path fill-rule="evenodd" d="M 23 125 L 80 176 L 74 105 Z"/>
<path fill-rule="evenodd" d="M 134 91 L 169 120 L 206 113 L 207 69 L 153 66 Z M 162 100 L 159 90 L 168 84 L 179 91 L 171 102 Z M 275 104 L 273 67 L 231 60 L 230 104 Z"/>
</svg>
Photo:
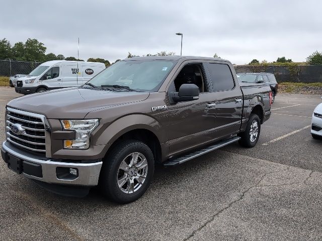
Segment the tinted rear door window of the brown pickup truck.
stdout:
<svg viewBox="0 0 322 241">
<path fill-rule="evenodd" d="M 213 91 L 229 90 L 235 84 L 230 68 L 226 64 L 207 63 Z"/>
</svg>

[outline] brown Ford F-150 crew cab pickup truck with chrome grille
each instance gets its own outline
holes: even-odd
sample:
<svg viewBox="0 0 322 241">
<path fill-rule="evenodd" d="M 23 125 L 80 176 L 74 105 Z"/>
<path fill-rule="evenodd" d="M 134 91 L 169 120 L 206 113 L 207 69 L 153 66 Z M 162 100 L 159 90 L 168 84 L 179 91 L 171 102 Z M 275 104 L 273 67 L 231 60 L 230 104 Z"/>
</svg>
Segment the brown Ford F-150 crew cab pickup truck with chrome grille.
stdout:
<svg viewBox="0 0 322 241">
<path fill-rule="evenodd" d="M 35 93 L 6 107 L 8 167 L 62 195 L 91 187 L 139 198 L 156 163 L 178 165 L 238 141 L 254 147 L 270 117 L 268 86 L 240 87 L 229 61 L 135 57 L 82 87 Z"/>
</svg>

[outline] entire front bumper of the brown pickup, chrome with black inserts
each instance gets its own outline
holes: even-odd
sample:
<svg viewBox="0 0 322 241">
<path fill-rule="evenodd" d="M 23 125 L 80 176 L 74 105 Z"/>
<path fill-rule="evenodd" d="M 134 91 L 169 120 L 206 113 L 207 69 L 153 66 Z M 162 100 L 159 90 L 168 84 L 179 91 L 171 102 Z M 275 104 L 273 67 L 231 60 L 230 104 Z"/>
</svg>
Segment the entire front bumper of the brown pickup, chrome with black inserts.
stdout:
<svg viewBox="0 0 322 241">
<path fill-rule="evenodd" d="M 1 155 L 8 167 L 11 166 L 15 172 L 30 179 L 52 184 L 96 186 L 102 167 L 101 160 L 90 163 L 74 163 L 68 160 L 61 162 L 44 157 L 39 158 L 32 153 L 16 148 L 7 141 L 2 144 Z M 69 168 L 77 170 L 77 176 L 68 175 Z"/>
</svg>

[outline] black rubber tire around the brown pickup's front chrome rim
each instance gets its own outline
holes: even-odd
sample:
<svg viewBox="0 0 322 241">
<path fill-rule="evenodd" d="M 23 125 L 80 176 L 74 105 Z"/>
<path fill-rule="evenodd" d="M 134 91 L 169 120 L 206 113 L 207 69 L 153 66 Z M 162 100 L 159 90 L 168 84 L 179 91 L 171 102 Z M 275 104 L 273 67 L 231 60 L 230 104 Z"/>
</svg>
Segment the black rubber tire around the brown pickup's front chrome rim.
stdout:
<svg viewBox="0 0 322 241">
<path fill-rule="evenodd" d="M 119 167 L 132 153 L 140 153 L 147 160 L 147 172 L 143 184 L 133 193 L 124 193 L 118 185 Z M 154 173 L 154 157 L 143 142 L 127 140 L 117 144 L 104 158 L 99 186 L 104 196 L 117 203 L 129 203 L 140 198 L 149 187 Z M 124 175 L 126 172 L 124 171 Z M 129 177 L 128 177 L 129 178 Z M 131 179 L 132 180 L 132 179 Z M 134 177 L 133 177 L 134 181 Z M 127 182 L 124 185 L 128 185 Z M 133 189 L 134 190 L 134 189 Z"/>
</svg>

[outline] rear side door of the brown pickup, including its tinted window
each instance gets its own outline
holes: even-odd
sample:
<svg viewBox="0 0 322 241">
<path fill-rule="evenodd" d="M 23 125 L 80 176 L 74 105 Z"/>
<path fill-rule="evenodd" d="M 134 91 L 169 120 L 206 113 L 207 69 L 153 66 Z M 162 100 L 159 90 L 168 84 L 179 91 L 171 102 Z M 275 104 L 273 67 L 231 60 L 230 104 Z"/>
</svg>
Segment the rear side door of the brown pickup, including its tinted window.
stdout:
<svg viewBox="0 0 322 241">
<path fill-rule="evenodd" d="M 234 71 L 231 66 L 224 63 L 209 62 L 206 65 L 216 96 L 216 137 L 223 138 L 236 134 L 241 125 L 243 93 L 235 83 L 237 80 L 233 78 Z"/>
</svg>

